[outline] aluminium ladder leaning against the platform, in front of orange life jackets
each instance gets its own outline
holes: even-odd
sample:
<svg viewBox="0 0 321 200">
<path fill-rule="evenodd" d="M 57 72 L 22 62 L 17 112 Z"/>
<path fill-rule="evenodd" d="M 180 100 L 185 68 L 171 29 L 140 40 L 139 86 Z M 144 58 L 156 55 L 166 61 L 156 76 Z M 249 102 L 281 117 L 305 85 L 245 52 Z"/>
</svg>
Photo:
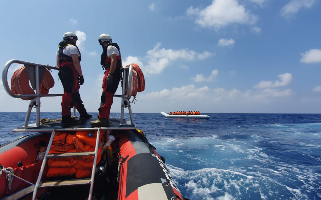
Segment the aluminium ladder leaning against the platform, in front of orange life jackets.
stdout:
<svg viewBox="0 0 321 200">
<path fill-rule="evenodd" d="M 49 144 L 46 150 L 45 157 L 42 161 L 39 176 L 37 179 L 37 182 L 35 184 L 35 189 L 32 194 L 32 200 L 36 199 L 37 196 L 37 191 L 39 188 L 50 188 L 50 187 L 61 187 L 61 186 L 77 186 L 77 185 L 88 185 L 90 184 L 90 189 L 89 189 L 89 196 L 88 200 L 91 200 L 92 198 L 92 190 L 94 186 L 94 178 L 95 178 L 95 169 L 96 169 L 96 162 L 97 162 L 97 155 L 98 155 L 98 146 L 99 146 L 99 136 L 100 136 L 100 128 L 97 131 L 96 135 L 96 146 L 95 146 L 95 151 L 87 151 L 87 152 L 73 152 L 73 153 L 55 153 L 55 154 L 50 154 L 49 155 L 49 150 L 51 148 L 52 141 L 54 139 L 56 130 L 54 130 L 51 133 L 51 137 L 49 140 Z M 93 164 L 92 164 L 92 171 L 91 171 L 91 178 L 86 178 L 86 179 L 73 179 L 73 180 L 59 180 L 59 181 L 47 181 L 47 182 L 41 182 L 41 177 L 43 174 L 43 171 L 45 169 L 47 159 L 50 158 L 62 158 L 62 157 L 84 157 L 84 156 L 94 156 Z"/>
</svg>

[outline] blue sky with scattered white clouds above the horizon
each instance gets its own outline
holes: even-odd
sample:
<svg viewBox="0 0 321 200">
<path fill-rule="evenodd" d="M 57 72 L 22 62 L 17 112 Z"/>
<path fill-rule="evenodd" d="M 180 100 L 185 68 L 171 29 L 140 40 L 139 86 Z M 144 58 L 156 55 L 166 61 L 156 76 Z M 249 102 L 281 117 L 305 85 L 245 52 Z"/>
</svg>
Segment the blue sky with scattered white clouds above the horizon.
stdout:
<svg viewBox="0 0 321 200">
<path fill-rule="evenodd" d="M 320 113 L 320 10 L 320 0 L 2 1 L 0 66 L 11 59 L 55 66 L 63 34 L 74 32 L 80 94 L 97 112 L 98 36 L 107 33 L 123 65 L 134 62 L 145 75 L 133 112 Z M 50 93 L 62 93 L 52 75 Z M 2 85 L 0 102 L 0 111 L 26 111 L 29 103 Z M 60 112 L 60 102 L 42 98 L 41 111 Z M 111 112 L 120 112 L 120 99 Z"/>
</svg>

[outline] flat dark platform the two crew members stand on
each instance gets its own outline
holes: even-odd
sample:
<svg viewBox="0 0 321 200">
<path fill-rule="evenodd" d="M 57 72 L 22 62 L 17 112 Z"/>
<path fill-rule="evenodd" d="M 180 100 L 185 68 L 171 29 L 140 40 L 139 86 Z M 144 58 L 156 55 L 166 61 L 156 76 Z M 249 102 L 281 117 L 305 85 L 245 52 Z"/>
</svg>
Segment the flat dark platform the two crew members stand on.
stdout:
<svg viewBox="0 0 321 200">
<path fill-rule="evenodd" d="M 124 119 L 124 125 L 120 124 L 120 119 L 109 118 L 109 127 L 93 127 L 90 125 L 90 121 L 96 120 L 96 118 L 82 119 L 78 124 L 61 124 L 61 121 L 53 121 L 45 124 L 41 124 L 39 127 L 36 124 L 29 124 L 28 126 L 22 126 L 20 128 L 13 129 L 12 132 L 52 132 L 56 131 L 87 131 L 87 130 L 130 130 L 136 129 L 135 124 L 131 124 L 130 121 Z"/>
</svg>

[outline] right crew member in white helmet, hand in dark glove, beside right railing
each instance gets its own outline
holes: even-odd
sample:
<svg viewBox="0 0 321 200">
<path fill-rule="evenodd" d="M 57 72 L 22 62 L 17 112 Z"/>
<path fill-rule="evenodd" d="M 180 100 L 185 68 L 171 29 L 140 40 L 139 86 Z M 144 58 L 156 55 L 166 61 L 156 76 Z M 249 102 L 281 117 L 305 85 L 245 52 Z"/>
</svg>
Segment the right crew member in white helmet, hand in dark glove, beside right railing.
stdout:
<svg viewBox="0 0 321 200">
<path fill-rule="evenodd" d="M 103 48 L 100 64 L 105 70 L 102 82 L 102 94 L 98 119 L 91 121 L 92 126 L 109 126 L 110 108 L 113 104 L 113 97 L 120 81 L 120 68 L 123 68 L 121 53 L 117 43 L 113 43 L 108 34 L 101 34 L 98 37 L 99 44 Z"/>
</svg>

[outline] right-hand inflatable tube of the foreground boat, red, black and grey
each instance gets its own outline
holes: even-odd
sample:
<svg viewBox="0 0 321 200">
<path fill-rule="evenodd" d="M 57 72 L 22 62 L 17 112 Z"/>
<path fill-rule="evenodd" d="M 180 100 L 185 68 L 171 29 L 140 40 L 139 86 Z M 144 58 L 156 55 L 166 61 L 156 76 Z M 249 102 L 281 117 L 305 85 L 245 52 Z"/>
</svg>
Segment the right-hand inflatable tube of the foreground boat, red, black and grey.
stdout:
<svg viewBox="0 0 321 200">
<path fill-rule="evenodd" d="M 177 199 L 183 196 L 166 168 L 163 158 L 158 155 L 146 138 L 134 131 L 115 135 L 120 137 L 121 164 L 118 198 L 139 199 Z M 123 161 L 122 161 L 123 159 Z"/>
</svg>

